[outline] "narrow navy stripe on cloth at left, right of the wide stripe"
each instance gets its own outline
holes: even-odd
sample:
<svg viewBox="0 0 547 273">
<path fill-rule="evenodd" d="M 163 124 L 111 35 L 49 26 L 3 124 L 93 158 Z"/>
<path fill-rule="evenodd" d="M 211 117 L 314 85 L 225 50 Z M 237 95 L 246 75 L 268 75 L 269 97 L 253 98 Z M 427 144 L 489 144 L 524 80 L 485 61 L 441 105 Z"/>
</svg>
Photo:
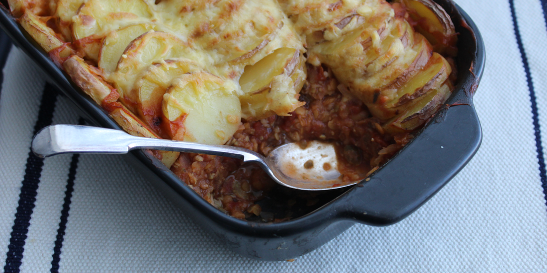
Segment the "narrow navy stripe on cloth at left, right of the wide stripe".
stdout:
<svg viewBox="0 0 547 273">
<path fill-rule="evenodd" d="M 80 117 L 78 124 L 83 125 L 84 119 Z M 59 272 L 59 262 L 61 262 L 61 249 L 63 247 L 63 241 L 65 240 L 65 230 L 67 228 L 68 211 L 70 210 L 70 204 L 72 203 L 72 192 L 74 191 L 74 179 L 76 178 L 76 170 L 78 169 L 78 159 L 80 155 L 75 153 L 72 156 L 70 163 L 70 169 L 68 170 L 67 189 L 65 191 L 65 202 L 63 203 L 63 209 L 61 210 L 61 221 L 59 222 L 59 229 L 57 229 L 57 239 L 55 240 L 55 247 L 53 248 L 53 259 L 51 260 L 51 273 Z"/>
</svg>

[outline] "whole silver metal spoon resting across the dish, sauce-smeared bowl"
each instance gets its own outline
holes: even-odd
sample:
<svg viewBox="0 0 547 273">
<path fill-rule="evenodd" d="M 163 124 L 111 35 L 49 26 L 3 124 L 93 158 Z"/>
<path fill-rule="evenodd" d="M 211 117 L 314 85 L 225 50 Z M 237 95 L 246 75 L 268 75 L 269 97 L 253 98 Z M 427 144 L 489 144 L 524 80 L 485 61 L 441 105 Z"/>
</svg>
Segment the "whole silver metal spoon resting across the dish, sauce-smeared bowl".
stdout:
<svg viewBox="0 0 547 273">
<path fill-rule="evenodd" d="M 244 162 L 258 163 L 274 181 L 283 186 L 306 191 L 342 188 L 359 182 L 342 181 L 334 146 L 319 141 L 311 141 L 305 149 L 296 143 L 282 145 L 264 157 L 240 147 L 141 138 L 121 130 L 79 125 L 48 126 L 32 140 L 32 151 L 39 157 L 61 153 L 127 153 L 135 149 L 238 158 Z"/>
</svg>

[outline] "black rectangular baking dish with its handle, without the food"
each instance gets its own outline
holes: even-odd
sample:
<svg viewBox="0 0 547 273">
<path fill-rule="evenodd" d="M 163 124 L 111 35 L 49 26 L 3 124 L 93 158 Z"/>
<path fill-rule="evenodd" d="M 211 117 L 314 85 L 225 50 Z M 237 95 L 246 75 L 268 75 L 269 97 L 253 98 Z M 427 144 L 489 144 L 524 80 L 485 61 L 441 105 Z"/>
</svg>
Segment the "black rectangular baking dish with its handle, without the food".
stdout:
<svg viewBox="0 0 547 273">
<path fill-rule="evenodd" d="M 6 1 L 2 3 L 7 7 Z M 482 132 L 473 106 L 473 94 L 485 63 L 479 30 L 451 0 L 435 0 L 455 23 L 458 36 L 458 81 L 455 91 L 421 132 L 369 181 L 350 189 L 319 195 L 315 206 L 280 206 L 272 199 L 261 204 L 290 213 L 280 223 L 242 221 L 208 204 L 147 152 L 133 151 L 127 159 L 166 197 L 181 207 L 201 228 L 223 241 L 230 250 L 259 260 L 287 260 L 309 253 L 354 223 L 389 225 L 399 222 L 439 191 L 479 149 Z M 2 7 L 1 27 L 53 79 L 84 115 L 97 126 L 120 129 L 100 106 L 79 90 L 69 77 Z M 283 192 L 278 194 L 297 194 Z"/>
</svg>

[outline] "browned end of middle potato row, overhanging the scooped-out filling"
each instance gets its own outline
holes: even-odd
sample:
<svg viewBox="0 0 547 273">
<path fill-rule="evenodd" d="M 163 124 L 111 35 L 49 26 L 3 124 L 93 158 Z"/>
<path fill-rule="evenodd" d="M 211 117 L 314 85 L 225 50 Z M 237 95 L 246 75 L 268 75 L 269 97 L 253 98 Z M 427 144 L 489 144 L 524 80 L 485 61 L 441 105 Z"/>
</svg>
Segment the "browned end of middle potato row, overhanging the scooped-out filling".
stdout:
<svg viewBox="0 0 547 273">
<path fill-rule="evenodd" d="M 287 116 L 304 103 L 298 93 L 304 84 L 300 51 L 280 48 L 252 66 L 245 67 L 239 84 L 243 118 L 259 120 L 273 114 Z"/>
</svg>

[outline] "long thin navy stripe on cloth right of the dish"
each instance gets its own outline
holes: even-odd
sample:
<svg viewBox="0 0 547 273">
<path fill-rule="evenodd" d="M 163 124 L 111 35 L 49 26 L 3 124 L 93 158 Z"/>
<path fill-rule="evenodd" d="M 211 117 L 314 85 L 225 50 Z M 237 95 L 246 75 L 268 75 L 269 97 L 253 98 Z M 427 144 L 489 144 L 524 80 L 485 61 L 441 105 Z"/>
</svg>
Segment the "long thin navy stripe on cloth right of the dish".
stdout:
<svg viewBox="0 0 547 273">
<path fill-rule="evenodd" d="M 542 4 L 544 4 L 544 1 L 542 2 Z M 530 102 L 532 103 L 532 123 L 534 124 L 534 135 L 536 136 L 536 151 L 538 153 L 539 177 L 542 182 L 543 193 L 547 196 L 547 174 L 545 173 L 545 157 L 543 155 L 541 128 L 539 127 L 536 92 L 534 91 L 534 85 L 532 83 L 530 67 L 528 66 L 528 58 L 526 57 L 524 46 L 522 46 L 522 39 L 520 37 L 519 24 L 516 20 L 515 4 L 513 3 L 513 0 L 509 0 L 509 7 L 511 8 L 511 16 L 513 17 L 513 27 L 515 28 L 516 43 L 517 45 L 519 45 L 522 64 L 524 66 L 524 72 L 526 73 L 526 82 L 528 83 L 528 90 L 530 92 Z"/>
</svg>

